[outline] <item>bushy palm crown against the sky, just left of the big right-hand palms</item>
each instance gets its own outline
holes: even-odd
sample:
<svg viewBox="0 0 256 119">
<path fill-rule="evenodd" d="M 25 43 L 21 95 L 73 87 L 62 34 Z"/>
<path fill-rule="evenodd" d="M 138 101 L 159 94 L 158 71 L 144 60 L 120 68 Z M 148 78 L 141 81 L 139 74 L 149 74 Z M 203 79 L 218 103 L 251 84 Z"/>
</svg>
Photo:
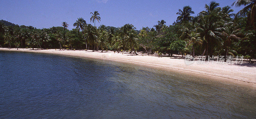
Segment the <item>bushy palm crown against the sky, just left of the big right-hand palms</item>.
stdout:
<svg viewBox="0 0 256 119">
<path fill-rule="evenodd" d="M 179 12 L 177 12 L 177 15 L 180 15 L 177 17 L 176 22 L 186 22 L 186 21 L 191 21 L 193 19 L 192 16 L 190 16 L 191 14 L 194 14 L 195 12 L 192 11 L 192 8 L 190 6 L 184 6 L 183 10 L 179 9 Z M 175 23 L 176 24 L 176 23 Z"/>
</svg>

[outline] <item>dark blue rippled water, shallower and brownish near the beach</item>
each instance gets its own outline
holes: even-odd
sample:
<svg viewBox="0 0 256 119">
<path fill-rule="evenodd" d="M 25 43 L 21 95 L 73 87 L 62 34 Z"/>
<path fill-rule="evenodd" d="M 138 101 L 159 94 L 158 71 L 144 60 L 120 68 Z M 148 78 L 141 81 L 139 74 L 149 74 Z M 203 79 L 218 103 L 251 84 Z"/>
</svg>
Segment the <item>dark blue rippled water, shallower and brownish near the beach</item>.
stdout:
<svg viewBox="0 0 256 119">
<path fill-rule="evenodd" d="M 0 118 L 255 118 L 255 91 L 131 64 L 0 51 Z"/>
</svg>

